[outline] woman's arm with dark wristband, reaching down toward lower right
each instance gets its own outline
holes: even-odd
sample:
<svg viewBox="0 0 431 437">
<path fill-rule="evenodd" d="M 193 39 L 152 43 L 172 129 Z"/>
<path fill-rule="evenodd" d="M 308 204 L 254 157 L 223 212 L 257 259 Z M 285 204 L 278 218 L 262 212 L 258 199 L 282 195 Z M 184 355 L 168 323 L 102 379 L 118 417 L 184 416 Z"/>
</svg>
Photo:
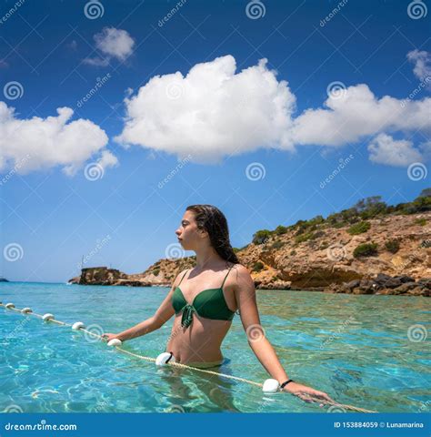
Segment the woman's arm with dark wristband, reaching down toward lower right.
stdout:
<svg viewBox="0 0 431 437">
<path fill-rule="evenodd" d="M 238 266 L 235 285 L 236 303 L 241 315 L 244 330 L 246 330 L 248 344 L 255 352 L 266 371 L 280 384 L 289 379 L 283 369 L 276 351 L 266 339 L 265 330 L 260 323 L 259 312 L 256 305 L 256 289 L 250 273 L 244 266 Z M 309 400 L 309 396 L 332 401 L 323 391 L 316 391 L 297 382 L 289 382 L 285 391 L 296 394 L 302 399 Z"/>
</svg>

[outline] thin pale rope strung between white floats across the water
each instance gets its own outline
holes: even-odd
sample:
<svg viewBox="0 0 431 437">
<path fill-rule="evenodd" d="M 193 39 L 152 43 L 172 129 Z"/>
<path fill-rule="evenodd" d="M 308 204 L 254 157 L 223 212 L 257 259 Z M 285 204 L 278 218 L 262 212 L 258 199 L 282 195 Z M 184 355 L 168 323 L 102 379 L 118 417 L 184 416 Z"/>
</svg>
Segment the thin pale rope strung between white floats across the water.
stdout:
<svg viewBox="0 0 431 437">
<path fill-rule="evenodd" d="M 37 317 L 38 319 L 44 320 L 44 316 L 42 314 L 37 314 L 36 312 L 33 312 L 33 310 L 30 310 L 28 312 L 27 311 L 22 312 L 22 310 L 20 310 L 18 308 L 15 308 L 15 306 L 14 307 L 10 307 L 10 306 L 6 307 L 6 305 L 3 302 L 0 302 L 0 307 L 4 307 L 6 310 L 12 310 L 12 311 L 24 314 L 24 315 L 33 315 L 33 316 Z M 61 321 L 61 320 L 55 320 L 54 318 L 48 319 L 46 321 L 50 321 L 52 323 L 56 323 L 57 325 L 60 325 L 60 326 L 69 326 L 69 327 L 73 326 L 71 323 L 66 323 L 65 321 Z M 104 341 L 104 342 L 106 341 L 101 335 L 95 334 L 95 332 L 91 332 L 90 330 L 85 330 L 85 328 L 79 328 L 79 330 L 82 330 L 87 335 L 95 337 L 98 340 L 101 340 L 101 341 Z M 155 362 L 155 358 L 145 357 L 144 355 L 140 355 L 140 354 L 135 353 L 135 352 L 126 351 L 121 346 L 115 346 L 115 349 L 117 351 L 123 352 L 123 353 L 125 353 L 127 355 L 130 355 L 132 357 L 139 358 L 140 360 Z M 222 377 L 224 377 L 226 379 L 229 379 L 229 380 L 245 382 L 246 384 L 254 385 L 256 387 L 260 387 L 260 388 L 263 387 L 263 384 L 260 383 L 260 382 L 246 380 L 245 378 L 240 378 L 238 376 L 226 375 L 226 373 L 219 373 L 217 371 L 207 371 L 205 369 L 199 369 L 197 367 L 187 366 L 186 364 L 182 364 L 180 362 L 168 361 L 166 363 L 166 365 L 172 366 L 172 367 L 176 367 L 176 368 L 179 368 L 179 369 L 190 369 L 192 371 L 200 371 L 202 373 L 207 373 L 209 375 L 222 376 Z M 309 395 L 308 395 L 308 397 L 310 398 L 311 401 L 316 401 L 313 397 L 311 397 Z M 351 410 L 351 411 L 354 411 L 354 412 L 373 412 L 373 411 L 370 411 L 370 410 L 365 410 L 363 408 L 355 407 L 353 405 L 346 405 L 346 404 L 343 404 L 343 403 L 331 402 L 331 401 L 320 400 L 320 399 L 317 400 L 317 401 L 319 401 L 320 403 L 326 404 L 326 405 L 332 405 L 332 406 L 338 407 L 338 408 L 343 409 L 343 410 Z"/>
</svg>

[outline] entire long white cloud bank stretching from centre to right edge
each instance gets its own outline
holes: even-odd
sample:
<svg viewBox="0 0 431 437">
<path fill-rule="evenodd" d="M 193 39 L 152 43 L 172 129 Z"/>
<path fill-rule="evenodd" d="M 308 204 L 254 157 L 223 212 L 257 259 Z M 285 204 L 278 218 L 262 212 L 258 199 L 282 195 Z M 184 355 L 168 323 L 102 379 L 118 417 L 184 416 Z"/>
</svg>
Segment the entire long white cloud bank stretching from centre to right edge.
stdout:
<svg viewBox="0 0 431 437">
<path fill-rule="evenodd" d="M 330 94 L 323 107 L 295 117 L 296 97 L 266 59 L 236 73 L 233 56 L 196 64 L 186 76 L 154 76 L 125 98 L 125 107 L 119 143 L 206 163 L 258 147 L 343 147 L 381 133 L 431 132 L 431 98 L 378 98 L 366 84 Z"/>
</svg>

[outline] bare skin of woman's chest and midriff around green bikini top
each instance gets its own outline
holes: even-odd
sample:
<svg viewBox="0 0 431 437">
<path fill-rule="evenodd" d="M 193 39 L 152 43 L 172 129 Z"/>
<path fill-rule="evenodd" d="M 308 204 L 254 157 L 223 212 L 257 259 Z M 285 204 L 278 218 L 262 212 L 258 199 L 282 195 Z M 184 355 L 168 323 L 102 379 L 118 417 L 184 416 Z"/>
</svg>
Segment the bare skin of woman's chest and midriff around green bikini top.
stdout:
<svg viewBox="0 0 431 437">
<path fill-rule="evenodd" d="M 190 271 L 188 270 L 185 273 L 184 279 L 179 284 L 181 294 L 187 303 L 195 302 L 195 297 L 205 290 L 220 288 L 224 281 L 221 288 L 223 294 L 220 293 L 220 297 L 224 297 L 229 310 L 236 311 L 232 270 L 203 272 L 194 278 L 190 278 Z M 228 271 L 229 274 L 227 274 Z M 183 313 L 178 312 L 175 314 L 174 325 L 166 345 L 166 351 L 172 351 L 175 361 L 183 363 L 221 360 L 223 355 L 220 347 L 232 325 L 232 321 L 205 319 L 195 311 L 192 317 L 192 323 L 185 328 L 181 324 Z"/>
</svg>

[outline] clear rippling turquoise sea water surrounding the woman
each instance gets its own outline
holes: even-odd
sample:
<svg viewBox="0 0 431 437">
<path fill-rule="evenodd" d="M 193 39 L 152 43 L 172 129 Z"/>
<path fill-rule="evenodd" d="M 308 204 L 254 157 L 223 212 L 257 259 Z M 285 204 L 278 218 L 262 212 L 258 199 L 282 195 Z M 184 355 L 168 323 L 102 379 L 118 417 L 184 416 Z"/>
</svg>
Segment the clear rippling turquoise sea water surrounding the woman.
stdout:
<svg viewBox="0 0 431 437">
<path fill-rule="evenodd" d="M 119 332 L 150 317 L 167 289 L 0 283 L 0 300 Z M 430 300 L 259 290 L 266 337 L 290 378 L 336 401 L 378 412 L 430 411 Z M 423 325 L 420 341 L 408 340 Z M 125 342 L 155 357 L 172 320 Z M 157 369 L 92 342 L 84 333 L 0 308 L 0 412 L 326 412 L 287 393 L 224 378 Z M 263 382 L 269 375 L 246 341 L 239 317 L 223 344 L 219 371 Z M 12 406 L 12 407 L 11 407 Z"/>
</svg>

